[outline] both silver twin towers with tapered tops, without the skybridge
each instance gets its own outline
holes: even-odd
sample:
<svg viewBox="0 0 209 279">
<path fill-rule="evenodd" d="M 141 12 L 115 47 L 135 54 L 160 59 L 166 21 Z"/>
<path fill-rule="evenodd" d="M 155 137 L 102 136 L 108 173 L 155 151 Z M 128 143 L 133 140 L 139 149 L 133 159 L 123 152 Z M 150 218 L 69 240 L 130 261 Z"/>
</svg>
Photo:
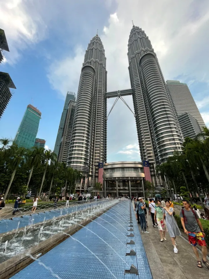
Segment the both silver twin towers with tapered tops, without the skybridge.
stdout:
<svg viewBox="0 0 209 279">
<path fill-rule="evenodd" d="M 148 160 L 154 185 L 155 166 L 181 150 L 183 138 L 165 80 L 145 32 L 133 26 L 128 61 L 140 155 Z M 107 71 L 100 37 L 90 41 L 81 70 L 67 165 L 80 170 L 88 185 L 98 181 L 98 163 L 107 161 Z"/>
</svg>

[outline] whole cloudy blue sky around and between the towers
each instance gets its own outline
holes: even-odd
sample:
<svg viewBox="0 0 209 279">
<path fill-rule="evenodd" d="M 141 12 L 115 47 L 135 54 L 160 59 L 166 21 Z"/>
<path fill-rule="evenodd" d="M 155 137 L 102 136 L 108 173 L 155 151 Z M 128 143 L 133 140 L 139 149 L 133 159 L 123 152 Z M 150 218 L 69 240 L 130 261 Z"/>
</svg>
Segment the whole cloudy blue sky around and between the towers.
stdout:
<svg viewBox="0 0 209 279">
<path fill-rule="evenodd" d="M 17 87 L 0 120 L 0 138 L 14 139 L 29 103 L 42 112 L 37 137 L 54 149 L 67 91 L 78 91 L 84 53 L 100 36 L 107 58 L 107 91 L 130 88 L 127 44 L 141 27 L 165 80 L 187 83 L 209 125 L 208 0 L 0 0 L 0 28 L 10 52 L 0 71 Z M 133 110 L 131 96 L 124 97 Z M 107 111 L 114 99 L 107 100 Z M 118 100 L 107 121 L 107 161 L 139 161 L 136 122 Z"/>
</svg>

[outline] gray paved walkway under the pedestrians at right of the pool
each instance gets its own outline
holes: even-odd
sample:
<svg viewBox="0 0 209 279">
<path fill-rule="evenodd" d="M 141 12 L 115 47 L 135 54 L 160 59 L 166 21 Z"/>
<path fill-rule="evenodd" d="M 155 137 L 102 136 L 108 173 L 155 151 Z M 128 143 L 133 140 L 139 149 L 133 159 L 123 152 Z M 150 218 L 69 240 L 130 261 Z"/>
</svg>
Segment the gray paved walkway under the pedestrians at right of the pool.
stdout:
<svg viewBox="0 0 209 279">
<path fill-rule="evenodd" d="M 179 252 L 174 254 L 169 234 L 166 233 L 167 240 L 161 242 L 158 228 L 152 227 L 149 215 L 147 215 L 147 222 L 149 226 L 147 230 L 150 233 L 141 235 L 154 279 L 209 278 L 209 270 L 204 265 L 202 269 L 197 267 L 192 246 L 185 238 L 177 236 L 176 244 Z M 139 230 L 141 231 L 140 225 Z"/>
</svg>

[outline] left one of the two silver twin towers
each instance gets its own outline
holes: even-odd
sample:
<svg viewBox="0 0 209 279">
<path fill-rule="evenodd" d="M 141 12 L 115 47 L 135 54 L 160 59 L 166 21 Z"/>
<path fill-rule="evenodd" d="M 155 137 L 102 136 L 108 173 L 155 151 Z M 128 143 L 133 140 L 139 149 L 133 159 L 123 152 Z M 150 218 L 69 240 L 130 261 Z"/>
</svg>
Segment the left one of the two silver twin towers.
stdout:
<svg viewBox="0 0 209 279">
<path fill-rule="evenodd" d="M 106 92 L 105 50 L 96 35 L 88 45 L 81 69 L 67 161 L 68 166 L 89 178 L 89 185 L 98 181 L 98 162 L 107 161 Z"/>
</svg>

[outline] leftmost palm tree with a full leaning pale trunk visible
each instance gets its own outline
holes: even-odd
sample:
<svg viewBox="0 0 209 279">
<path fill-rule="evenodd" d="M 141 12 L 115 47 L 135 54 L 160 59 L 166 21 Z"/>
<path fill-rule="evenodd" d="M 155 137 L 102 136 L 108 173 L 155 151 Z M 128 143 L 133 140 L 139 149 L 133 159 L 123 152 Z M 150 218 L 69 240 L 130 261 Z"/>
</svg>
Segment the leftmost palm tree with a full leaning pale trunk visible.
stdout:
<svg viewBox="0 0 209 279">
<path fill-rule="evenodd" d="M 6 200 L 7 195 L 9 193 L 10 187 L 12 185 L 12 182 L 15 178 L 15 173 L 17 171 L 17 168 L 21 165 L 24 164 L 25 162 L 25 155 L 26 155 L 26 149 L 23 147 L 17 147 L 17 145 L 13 144 L 12 146 L 10 146 L 9 149 L 6 149 L 5 151 L 5 161 L 8 162 L 8 164 L 10 165 L 11 169 L 12 169 L 12 176 L 10 178 L 10 182 L 8 184 L 6 193 L 4 195 L 4 198 Z"/>
</svg>

